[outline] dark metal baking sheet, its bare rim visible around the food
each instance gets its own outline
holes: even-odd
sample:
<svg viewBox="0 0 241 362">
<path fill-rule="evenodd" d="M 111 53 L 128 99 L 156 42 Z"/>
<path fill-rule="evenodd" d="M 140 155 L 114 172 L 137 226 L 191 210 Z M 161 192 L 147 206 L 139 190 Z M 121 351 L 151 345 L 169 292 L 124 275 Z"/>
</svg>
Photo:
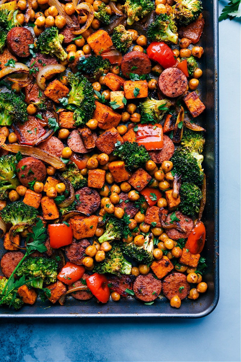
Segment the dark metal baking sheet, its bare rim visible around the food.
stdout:
<svg viewBox="0 0 241 362">
<path fill-rule="evenodd" d="M 0 317 L 11 318 L 200 318 L 211 313 L 219 299 L 219 105 L 218 105 L 218 0 L 203 1 L 205 27 L 197 45 L 204 49 L 199 63 L 203 71 L 199 96 L 206 110 L 198 117 L 199 124 L 206 129 L 203 167 L 207 178 L 207 203 L 203 213 L 206 226 L 206 244 L 202 256 L 206 258 L 207 270 L 203 280 L 208 289 L 197 300 L 182 300 L 179 309 L 172 308 L 164 296 L 151 306 L 128 297 L 118 303 L 111 299 L 107 304 L 98 304 L 94 298 L 77 301 L 68 298 L 64 306 L 57 302 L 36 302 L 24 305 L 15 311 L 0 308 Z M 0 243 L 0 257 L 6 252 Z M 50 305 L 51 304 L 51 305 Z"/>
</svg>

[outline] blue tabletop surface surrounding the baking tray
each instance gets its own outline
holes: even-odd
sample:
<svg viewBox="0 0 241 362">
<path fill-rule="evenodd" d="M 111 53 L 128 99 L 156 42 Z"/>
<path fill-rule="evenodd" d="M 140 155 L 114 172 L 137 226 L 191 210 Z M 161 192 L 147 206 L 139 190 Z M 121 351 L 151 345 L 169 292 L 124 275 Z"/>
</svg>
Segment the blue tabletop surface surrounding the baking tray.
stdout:
<svg viewBox="0 0 241 362">
<path fill-rule="evenodd" d="M 224 4 L 220 0 L 220 12 Z M 241 360 L 238 21 L 219 24 L 219 85 L 220 299 L 214 312 L 194 320 L 2 320 L 1 361 Z"/>
</svg>

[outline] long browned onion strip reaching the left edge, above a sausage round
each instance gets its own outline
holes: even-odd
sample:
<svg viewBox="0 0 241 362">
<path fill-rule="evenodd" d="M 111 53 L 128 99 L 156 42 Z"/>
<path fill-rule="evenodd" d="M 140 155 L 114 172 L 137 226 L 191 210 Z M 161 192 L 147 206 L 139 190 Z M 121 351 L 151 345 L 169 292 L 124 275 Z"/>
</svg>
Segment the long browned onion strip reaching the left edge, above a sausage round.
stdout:
<svg viewBox="0 0 241 362">
<path fill-rule="evenodd" d="M 17 143 L 4 143 L 2 147 L 4 148 L 4 150 L 9 152 L 18 153 L 18 151 L 20 151 L 23 155 L 33 156 L 38 160 L 46 162 L 57 169 L 65 167 L 65 164 L 60 160 L 59 157 L 50 155 L 50 153 L 40 150 L 40 148 L 37 147 L 19 145 Z"/>
</svg>

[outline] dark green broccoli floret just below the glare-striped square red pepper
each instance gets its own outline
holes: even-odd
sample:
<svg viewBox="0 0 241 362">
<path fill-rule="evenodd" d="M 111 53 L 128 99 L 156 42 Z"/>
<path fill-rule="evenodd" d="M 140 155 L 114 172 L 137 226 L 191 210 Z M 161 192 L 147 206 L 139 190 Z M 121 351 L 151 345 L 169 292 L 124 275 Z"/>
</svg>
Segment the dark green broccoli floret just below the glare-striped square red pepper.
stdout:
<svg viewBox="0 0 241 362">
<path fill-rule="evenodd" d="M 142 167 L 151 158 L 145 146 L 139 146 L 137 142 L 130 143 L 128 141 L 117 146 L 113 155 L 125 161 L 125 166 L 130 171 Z"/>
</svg>

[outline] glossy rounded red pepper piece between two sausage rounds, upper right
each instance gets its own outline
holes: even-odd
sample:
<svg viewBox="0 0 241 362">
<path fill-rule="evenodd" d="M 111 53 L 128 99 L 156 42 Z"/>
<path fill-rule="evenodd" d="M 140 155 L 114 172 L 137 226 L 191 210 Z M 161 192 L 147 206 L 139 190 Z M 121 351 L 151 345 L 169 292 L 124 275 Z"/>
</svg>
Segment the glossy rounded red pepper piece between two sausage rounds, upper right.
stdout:
<svg viewBox="0 0 241 362">
<path fill-rule="evenodd" d="M 152 42 L 147 48 L 146 54 L 151 60 L 158 62 L 164 69 L 177 64 L 175 54 L 164 42 Z"/>
</svg>

